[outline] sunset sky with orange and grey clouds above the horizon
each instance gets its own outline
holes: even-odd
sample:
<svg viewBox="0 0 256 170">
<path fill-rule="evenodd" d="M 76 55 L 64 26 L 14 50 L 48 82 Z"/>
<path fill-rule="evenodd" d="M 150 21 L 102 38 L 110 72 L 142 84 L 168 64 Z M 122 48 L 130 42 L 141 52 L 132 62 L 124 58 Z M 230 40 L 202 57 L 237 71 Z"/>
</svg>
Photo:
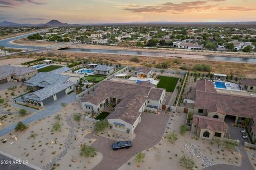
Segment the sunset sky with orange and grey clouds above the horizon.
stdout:
<svg viewBox="0 0 256 170">
<path fill-rule="evenodd" d="M 256 0 L 0 0 L 0 21 L 256 21 Z"/>
</svg>

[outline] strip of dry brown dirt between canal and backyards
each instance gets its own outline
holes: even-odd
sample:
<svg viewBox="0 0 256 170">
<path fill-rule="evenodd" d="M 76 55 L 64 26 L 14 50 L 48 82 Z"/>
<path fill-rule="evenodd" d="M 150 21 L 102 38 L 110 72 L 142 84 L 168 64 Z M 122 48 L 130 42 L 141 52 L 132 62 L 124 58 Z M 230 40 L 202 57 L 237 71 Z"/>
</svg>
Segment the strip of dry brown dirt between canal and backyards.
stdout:
<svg viewBox="0 0 256 170">
<path fill-rule="evenodd" d="M 123 65 L 143 66 L 151 64 L 153 67 L 157 63 L 168 62 L 169 69 L 180 70 L 180 66 L 186 64 L 189 67 L 189 71 L 192 71 L 195 64 L 209 64 L 212 66 L 212 73 L 225 73 L 227 75 L 233 74 L 239 77 L 256 78 L 256 64 L 245 63 L 233 63 L 233 62 L 221 62 L 221 61 L 208 61 L 208 60 L 192 60 L 192 59 L 178 59 L 179 64 L 174 63 L 174 58 L 162 58 L 162 57 L 149 57 L 139 56 L 140 62 L 131 62 L 130 59 L 133 56 L 127 55 L 114 55 L 114 54 L 89 54 L 89 53 L 76 53 L 76 52 L 54 52 L 56 58 L 73 59 L 73 60 L 85 60 L 89 59 L 91 62 L 102 59 L 103 63 L 121 63 Z M 47 57 L 47 54 L 37 54 L 39 56 Z M 177 59 L 177 58 L 176 58 Z M 207 74 L 207 73 L 205 73 Z"/>
</svg>

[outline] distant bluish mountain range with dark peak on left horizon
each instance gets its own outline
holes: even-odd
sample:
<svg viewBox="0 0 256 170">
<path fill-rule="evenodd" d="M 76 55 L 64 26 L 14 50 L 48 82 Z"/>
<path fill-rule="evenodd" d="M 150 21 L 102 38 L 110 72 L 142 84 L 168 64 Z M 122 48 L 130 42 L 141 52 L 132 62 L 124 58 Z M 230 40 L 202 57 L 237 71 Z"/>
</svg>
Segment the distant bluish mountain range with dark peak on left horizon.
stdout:
<svg viewBox="0 0 256 170">
<path fill-rule="evenodd" d="M 68 23 L 62 23 L 58 20 L 51 20 L 47 23 L 41 23 L 41 24 L 22 24 L 22 23 L 14 23 L 14 22 L 8 22 L 3 21 L 0 22 L 0 27 L 75 27 L 79 24 L 68 24 Z"/>
</svg>

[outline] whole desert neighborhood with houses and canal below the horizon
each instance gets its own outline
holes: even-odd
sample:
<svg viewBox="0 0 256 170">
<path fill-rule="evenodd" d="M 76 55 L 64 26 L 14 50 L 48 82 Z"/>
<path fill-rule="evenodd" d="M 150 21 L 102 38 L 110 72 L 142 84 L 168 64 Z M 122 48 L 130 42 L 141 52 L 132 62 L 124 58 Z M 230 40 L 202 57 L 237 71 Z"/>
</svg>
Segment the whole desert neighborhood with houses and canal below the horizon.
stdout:
<svg viewBox="0 0 256 170">
<path fill-rule="evenodd" d="M 255 27 L 63 24 L 0 40 L 11 169 L 256 169 Z"/>
</svg>

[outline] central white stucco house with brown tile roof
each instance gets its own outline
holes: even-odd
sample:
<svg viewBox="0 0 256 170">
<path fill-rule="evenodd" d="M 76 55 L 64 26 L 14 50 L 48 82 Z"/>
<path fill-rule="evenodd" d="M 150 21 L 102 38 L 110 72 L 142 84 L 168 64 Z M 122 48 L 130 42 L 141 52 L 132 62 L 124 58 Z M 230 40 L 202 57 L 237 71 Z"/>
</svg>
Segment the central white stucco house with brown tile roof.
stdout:
<svg viewBox="0 0 256 170">
<path fill-rule="evenodd" d="M 91 94 L 81 100 L 83 111 L 99 113 L 106 105 L 113 103 L 115 111 L 107 120 L 113 129 L 133 133 L 141 121 L 141 113 L 146 109 L 161 106 L 165 97 L 165 89 L 145 86 L 137 83 L 119 81 L 102 81 Z M 147 108 L 147 106 L 150 106 Z"/>
</svg>

